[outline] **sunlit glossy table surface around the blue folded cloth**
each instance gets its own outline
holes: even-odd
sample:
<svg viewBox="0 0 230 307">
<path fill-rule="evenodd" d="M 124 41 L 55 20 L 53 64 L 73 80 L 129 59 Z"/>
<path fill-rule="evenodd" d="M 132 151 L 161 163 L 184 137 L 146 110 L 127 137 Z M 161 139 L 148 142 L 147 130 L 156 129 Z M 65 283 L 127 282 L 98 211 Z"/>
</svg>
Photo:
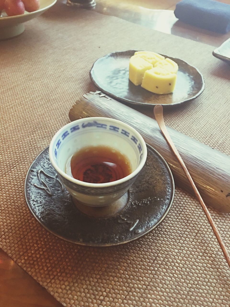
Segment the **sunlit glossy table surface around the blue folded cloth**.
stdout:
<svg viewBox="0 0 230 307">
<path fill-rule="evenodd" d="M 201 0 L 202 1 L 202 0 Z M 217 0 L 229 4 L 230 0 Z M 215 47 L 230 37 L 227 34 L 199 29 L 186 25 L 174 15 L 178 0 L 96 0 L 97 12 L 143 25 L 164 33 L 189 38 Z"/>
</svg>

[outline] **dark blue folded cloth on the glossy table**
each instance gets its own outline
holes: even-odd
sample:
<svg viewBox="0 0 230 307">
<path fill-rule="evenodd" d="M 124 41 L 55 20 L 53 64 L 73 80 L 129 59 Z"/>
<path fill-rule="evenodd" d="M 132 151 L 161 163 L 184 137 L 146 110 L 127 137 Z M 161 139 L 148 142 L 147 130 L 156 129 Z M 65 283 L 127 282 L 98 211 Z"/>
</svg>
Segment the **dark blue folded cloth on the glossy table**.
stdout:
<svg viewBox="0 0 230 307">
<path fill-rule="evenodd" d="M 190 25 L 218 33 L 230 31 L 230 5 L 213 0 L 182 0 L 175 16 Z"/>
</svg>

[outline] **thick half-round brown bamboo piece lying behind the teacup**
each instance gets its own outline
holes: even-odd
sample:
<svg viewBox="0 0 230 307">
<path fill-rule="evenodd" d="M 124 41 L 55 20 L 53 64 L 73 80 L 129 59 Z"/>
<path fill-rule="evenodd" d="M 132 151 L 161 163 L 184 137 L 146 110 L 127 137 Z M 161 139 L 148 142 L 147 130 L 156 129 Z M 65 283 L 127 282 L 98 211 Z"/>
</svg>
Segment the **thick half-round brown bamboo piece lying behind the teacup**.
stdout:
<svg viewBox="0 0 230 307">
<path fill-rule="evenodd" d="M 152 109 L 146 113 L 154 116 Z M 176 185 L 194 194 L 155 119 L 125 106 L 100 91 L 84 94 L 69 111 L 71 121 L 88 116 L 119 119 L 134 127 L 143 136 L 145 142 L 155 148 L 167 161 Z M 220 212 L 230 212 L 230 157 L 170 127 L 167 127 L 167 130 L 181 153 L 205 204 Z"/>
</svg>

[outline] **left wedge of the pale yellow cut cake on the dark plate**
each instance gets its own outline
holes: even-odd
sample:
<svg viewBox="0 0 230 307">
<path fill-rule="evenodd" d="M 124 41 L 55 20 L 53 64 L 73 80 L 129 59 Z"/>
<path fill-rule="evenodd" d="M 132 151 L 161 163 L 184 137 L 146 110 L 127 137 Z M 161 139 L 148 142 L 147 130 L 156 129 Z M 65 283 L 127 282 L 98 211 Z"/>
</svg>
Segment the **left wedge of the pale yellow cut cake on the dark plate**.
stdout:
<svg viewBox="0 0 230 307">
<path fill-rule="evenodd" d="M 153 68 L 153 65 L 140 56 L 131 56 L 129 60 L 129 80 L 135 85 L 140 85 L 145 71 L 151 68 Z"/>
</svg>

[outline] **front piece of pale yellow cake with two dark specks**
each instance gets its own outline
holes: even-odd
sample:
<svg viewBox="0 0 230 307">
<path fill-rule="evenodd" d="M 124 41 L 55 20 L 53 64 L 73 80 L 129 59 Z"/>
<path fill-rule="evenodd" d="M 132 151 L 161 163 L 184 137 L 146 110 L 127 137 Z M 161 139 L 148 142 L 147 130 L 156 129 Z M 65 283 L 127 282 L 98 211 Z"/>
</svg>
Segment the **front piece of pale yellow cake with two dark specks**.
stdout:
<svg viewBox="0 0 230 307">
<path fill-rule="evenodd" d="M 155 94 L 169 94 L 174 90 L 176 79 L 176 74 L 154 67 L 144 73 L 141 87 Z"/>
</svg>

